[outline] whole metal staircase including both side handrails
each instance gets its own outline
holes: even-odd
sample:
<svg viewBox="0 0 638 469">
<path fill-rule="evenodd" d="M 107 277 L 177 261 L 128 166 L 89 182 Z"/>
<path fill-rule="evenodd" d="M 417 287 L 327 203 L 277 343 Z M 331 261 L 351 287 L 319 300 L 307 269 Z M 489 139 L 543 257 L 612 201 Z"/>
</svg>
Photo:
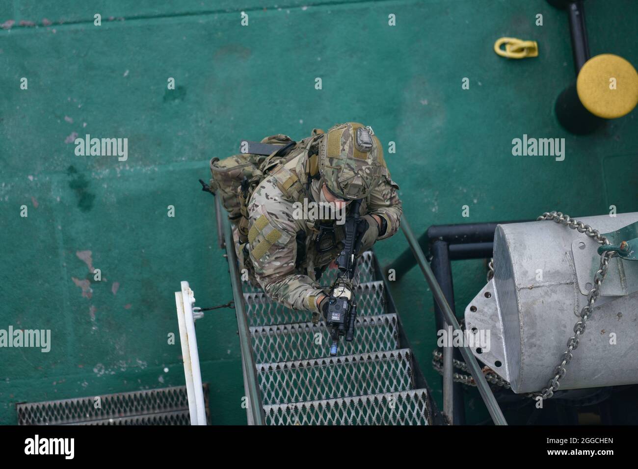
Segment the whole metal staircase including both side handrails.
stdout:
<svg viewBox="0 0 638 469">
<path fill-rule="evenodd" d="M 218 197 L 215 207 L 219 247 L 226 250 L 235 303 L 248 424 L 448 422 L 431 398 L 372 251 L 360 257 L 357 268 L 355 339 L 341 344 L 341 355 L 330 357 L 323 322 L 308 322 L 307 312 L 283 308 L 248 283 L 242 288 L 231 223 L 222 215 Z M 405 215 L 401 230 L 445 322 L 460 331 Z M 336 274 L 324 272 L 322 285 L 332 285 Z M 494 423 L 507 425 L 476 357 L 468 346 L 459 350 Z"/>
</svg>

